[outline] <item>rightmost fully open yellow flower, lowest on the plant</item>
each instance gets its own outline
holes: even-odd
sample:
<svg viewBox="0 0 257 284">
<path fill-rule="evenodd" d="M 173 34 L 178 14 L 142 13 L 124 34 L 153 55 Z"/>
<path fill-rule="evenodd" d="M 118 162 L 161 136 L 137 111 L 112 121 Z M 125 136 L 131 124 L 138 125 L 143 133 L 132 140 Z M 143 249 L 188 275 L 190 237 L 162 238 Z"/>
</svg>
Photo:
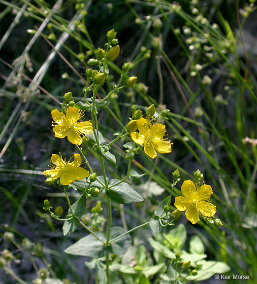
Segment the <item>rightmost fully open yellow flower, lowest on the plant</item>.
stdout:
<svg viewBox="0 0 257 284">
<path fill-rule="evenodd" d="M 186 218 L 192 224 L 199 221 L 198 213 L 204 217 L 212 217 L 217 212 L 216 207 L 208 202 L 213 194 L 210 185 L 203 184 L 196 189 L 192 180 L 185 180 L 181 191 L 184 196 L 176 197 L 174 206 L 179 211 L 186 211 Z"/>
</svg>

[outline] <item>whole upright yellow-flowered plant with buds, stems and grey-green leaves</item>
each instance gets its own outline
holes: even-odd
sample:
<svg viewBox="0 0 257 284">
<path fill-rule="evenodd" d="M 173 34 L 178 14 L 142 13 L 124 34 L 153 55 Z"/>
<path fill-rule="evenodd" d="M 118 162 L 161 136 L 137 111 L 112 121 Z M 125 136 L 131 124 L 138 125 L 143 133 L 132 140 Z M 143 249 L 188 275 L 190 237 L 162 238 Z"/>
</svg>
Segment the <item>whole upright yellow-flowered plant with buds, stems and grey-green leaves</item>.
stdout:
<svg viewBox="0 0 257 284">
<path fill-rule="evenodd" d="M 60 218 L 63 214 L 61 206 L 58 206 L 52 212 L 50 202 L 45 200 L 44 210 L 48 211 L 55 219 L 64 221 L 64 236 L 73 233 L 79 226 L 82 226 L 89 232 L 89 235 L 65 249 L 65 252 L 92 258 L 101 258 L 101 265 L 106 272 L 102 283 L 107 284 L 111 283 L 110 264 L 115 258 L 114 255 L 119 257 L 124 255 L 131 245 L 130 232 L 149 224 L 154 232 L 160 233 L 163 228 L 174 225 L 174 220 L 180 216 L 179 211 L 186 211 L 186 217 L 193 224 L 199 220 L 198 213 L 210 218 L 216 213 L 214 205 L 207 202 L 212 194 L 212 189 L 209 185 L 203 184 L 200 186 L 199 181 L 202 175 L 198 171 L 195 174 L 195 177 L 197 177 L 196 184 L 193 181 L 185 181 L 182 185 L 184 197 L 177 197 L 175 202 L 178 210 L 170 212 L 170 195 L 159 204 L 155 211 L 155 216 L 149 222 L 129 231 L 122 227 L 111 226 L 111 201 L 120 204 L 143 201 L 143 197 L 126 182 L 128 179 L 135 181 L 145 175 L 140 175 L 135 170 L 130 169 L 135 154 L 138 154 L 143 149 L 150 158 L 154 159 L 157 157 L 157 152 L 161 154 L 170 153 L 172 145 L 168 139 L 163 138 L 166 132 L 165 125 L 159 122 L 161 119 L 167 119 L 166 115 L 169 113 L 169 110 L 164 109 L 159 115 L 155 115 L 156 109 L 154 105 L 148 107 L 145 118 L 142 117 L 140 109 L 137 109 L 136 106 L 131 106 L 132 115 L 129 118 L 128 124 L 124 126 L 114 140 L 106 143 L 106 140 L 100 133 L 97 118 L 98 112 L 110 104 L 109 100 L 113 95 L 118 94 L 124 88 L 134 86 L 137 81 L 137 77 L 135 76 L 128 77 L 127 73 L 131 65 L 125 63 L 122 67 L 120 79 L 113 86 L 112 91 L 103 98 L 98 95 L 99 88 L 108 77 L 108 65 L 118 57 L 119 53 L 120 47 L 116 38 L 116 32 L 111 30 L 107 33 L 105 49 L 97 49 L 95 52 L 96 58 L 88 61 L 88 64 L 92 65 L 95 69 L 88 68 L 85 71 L 86 86 L 83 89 L 84 102 L 74 102 L 71 92 L 68 92 L 64 94 L 61 111 L 58 109 L 52 110 L 55 137 L 65 139 L 67 136 L 68 141 L 76 146 L 78 153 L 73 155 L 73 160 L 70 159 L 68 161 L 61 154 L 52 154 L 51 162 L 53 165 L 50 166 L 50 170 L 44 171 L 48 185 L 53 184 L 57 180 L 57 184 L 63 188 L 69 207 L 68 213 L 63 219 Z M 87 95 L 90 92 L 93 92 L 93 95 L 91 98 L 88 98 Z M 81 121 L 85 111 L 91 113 L 91 121 Z M 126 148 L 125 158 L 128 161 L 127 174 L 122 179 L 109 179 L 106 173 L 105 162 L 114 168 L 116 167 L 116 157 L 111 153 L 112 146 L 118 140 L 129 135 L 132 141 L 123 145 Z M 90 147 L 98 155 L 100 170 L 97 169 L 96 171 L 88 159 L 88 152 L 91 150 Z M 84 160 L 84 166 L 82 160 Z M 175 171 L 173 173 L 174 181 L 172 188 L 180 181 L 179 177 L 179 172 Z M 77 190 L 80 194 L 79 198 L 73 204 L 71 204 L 67 194 L 67 189 L 70 187 Z M 107 229 L 105 233 L 97 231 L 97 228 L 102 226 L 99 219 L 99 214 L 102 211 L 101 201 L 97 201 L 96 206 L 91 209 L 91 212 L 94 214 L 93 229 L 87 225 L 83 217 L 87 200 L 99 198 L 100 196 L 106 200 L 108 207 Z M 177 262 L 179 259 L 180 257 L 177 258 Z M 185 266 L 185 264 L 182 264 L 182 268 L 183 265 Z M 146 278 L 146 275 L 144 277 Z"/>
</svg>

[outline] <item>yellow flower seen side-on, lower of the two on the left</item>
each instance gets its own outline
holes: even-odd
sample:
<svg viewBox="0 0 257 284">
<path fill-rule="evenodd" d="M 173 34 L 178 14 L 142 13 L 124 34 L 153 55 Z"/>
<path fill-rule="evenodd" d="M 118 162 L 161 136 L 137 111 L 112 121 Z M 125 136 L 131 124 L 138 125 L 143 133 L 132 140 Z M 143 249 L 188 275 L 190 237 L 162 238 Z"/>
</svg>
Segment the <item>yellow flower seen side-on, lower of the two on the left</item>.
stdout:
<svg viewBox="0 0 257 284">
<path fill-rule="evenodd" d="M 51 178 L 60 178 L 60 182 L 63 185 L 68 185 L 75 180 L 81 180 L 89 176 L 89 171 L 80 167 L 81 157 L 79 154 L 74 154 L 74 161 L 66 162 L 62 157 L 52 154 L 51 162 L 54 166 L 50 166 L 51 170 L 44 171 L 45 176 L 50 175 Z"/>
</svg>

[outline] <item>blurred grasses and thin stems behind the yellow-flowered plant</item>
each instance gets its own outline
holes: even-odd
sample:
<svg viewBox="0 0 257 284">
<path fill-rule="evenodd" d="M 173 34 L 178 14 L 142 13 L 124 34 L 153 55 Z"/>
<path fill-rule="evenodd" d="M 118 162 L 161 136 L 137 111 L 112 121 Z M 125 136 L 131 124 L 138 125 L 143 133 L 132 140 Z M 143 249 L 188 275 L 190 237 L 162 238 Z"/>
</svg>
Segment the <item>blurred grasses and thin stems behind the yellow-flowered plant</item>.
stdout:
<svg viewBox="0 0 257 284">
<path fill-rule="evenodd" d="M 155 104 L 159 111 L 170 109 L 165 124 L 174 144 L 172 153 L 156 160 L 143 153 L 135 157 L 134 169 L 148 173 L 134 185 L 147 189 L 146 202 L 116 207 L 114 223 L 131 228 L 148 221 L 171 191 L 171 172 L 179 169 L 182 179 L 192 179 L 200 169 L 214 189 L 212 201 L 224 227 L 193 226 L 181 217 L 187 233 L 201 237 L 208 259 L 226 262 L 229 274 L 249 275 L 246 283 L 255 283 L 254 2 L 0 0 L 0 250 L 12 251 L 16 276 L 31 283 L 38 268 L 51 264 L 60 279 L 95 281 L 81 258 L 64 253 L 82 231 L 64 238 L 62 224 L 42 210 L 46 197 L 67 209 L 64 195 L 45 185 L 42 171 L 52 153 L 65 148 L 71 156 L 73 151 L 67 141 L 54 138 L 50 111 L 65 92 L 83 96 L 87 61 L 104 44 L 106 32 L 115 29 L 122 52 L 101 93 L 112 89 L 125 61 L 133 63 L 129 75 L 137 76 L 138 84 L 113 96 L 100 113 L 100 131 L 111 139 L 128 122 L 132 104 L 141 109 Z M 121 146 L 114 153 L 117 169 L 109 169 L 113 178 L 126 175 Z M 99 164 L 96 158 L 94 163 Z M 88 206 L 85 218 L 94 201 Z M 143 244 L 151 254 L 151 234 L 149 227 L 132 234 L 133 245 Z M 1 284 L 17 283 L 4 270 L 0 274 Z"/>
</svg>

